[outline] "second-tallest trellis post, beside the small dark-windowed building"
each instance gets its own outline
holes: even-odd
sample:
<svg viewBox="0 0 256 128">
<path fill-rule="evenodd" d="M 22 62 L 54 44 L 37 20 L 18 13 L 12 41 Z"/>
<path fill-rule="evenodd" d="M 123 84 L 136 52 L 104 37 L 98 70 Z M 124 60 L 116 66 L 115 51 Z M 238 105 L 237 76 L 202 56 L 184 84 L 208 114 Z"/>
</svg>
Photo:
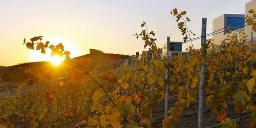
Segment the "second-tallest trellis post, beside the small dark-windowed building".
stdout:
<svg viewBox="0 0 256 128">
<path fill-rule="evenodd" d="M 168 60 L 170 57 L 170 51 L 169 51 L 169 45 L 170 45 L 170 37 L 167 36 L 167 45 L 166 45 L 166 59 Z M 167 81 L 169 77 L 168 68 L 165 67 L 165 80 Z M 168 116 L 168 93 L 169 91 L 169 85 L 165 85 L 165 98 L 164 98 L 164 118 Z"/>
</svg>

